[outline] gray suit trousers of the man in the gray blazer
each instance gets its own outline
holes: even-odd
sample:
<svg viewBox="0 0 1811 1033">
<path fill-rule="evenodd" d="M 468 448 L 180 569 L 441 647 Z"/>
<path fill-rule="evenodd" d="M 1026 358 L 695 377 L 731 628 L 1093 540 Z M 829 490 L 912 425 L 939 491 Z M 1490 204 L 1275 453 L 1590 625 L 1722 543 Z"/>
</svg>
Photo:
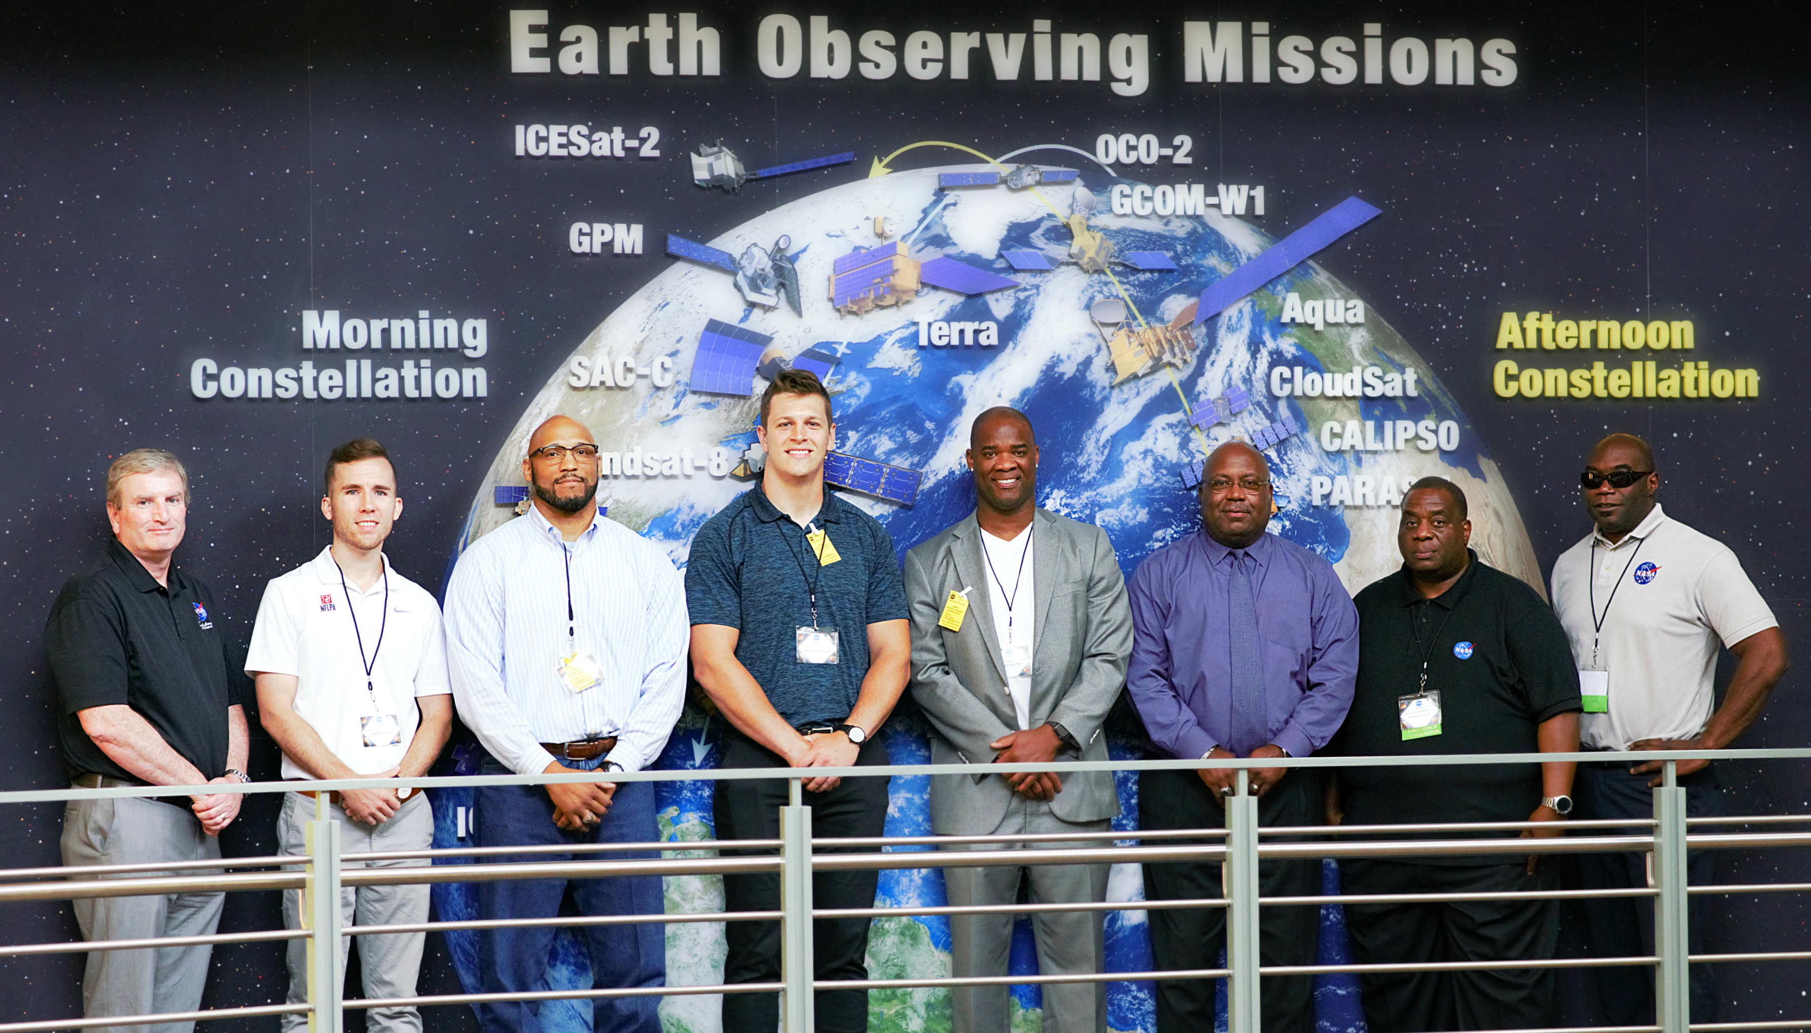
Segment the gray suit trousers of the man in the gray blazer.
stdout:
<svg viewBox="0 0 1811 1033">
<path fill-rule="evenodd" d="M 1108 821 L 1063 821 L 1050 805 L 1012 794 L 994 836 L 1047 832 L 1105 832 Z M 1011 850 L 1099 847 L 1094 843 L 996 843 L 951 845 L 944 850 Z M 1034 905 L 1097 903 L 1107 899 L 1108 865 L 1011 865 L 992 868 L 944 868 L 944 886 L 951 906 L 1016 905 L 1020 883 Z M 1101 939 L 1101 912 L 1041 912 L 1032 915 L 1038 935 L 1038 971 L 1065 975 L 1101 971 L 1107 950 Z M 951 961 L 956 977 L 1005 975 L 1012 950 L 1012 915 L 949 915 Z M 1007 1033 L 1007 986 L 969 986 L 953 990 L 956 1033 Z M 1107 1029 L 1107 984 L 1043 984 L 1045 1033 L 1092 1033 Z"/>
</svg>

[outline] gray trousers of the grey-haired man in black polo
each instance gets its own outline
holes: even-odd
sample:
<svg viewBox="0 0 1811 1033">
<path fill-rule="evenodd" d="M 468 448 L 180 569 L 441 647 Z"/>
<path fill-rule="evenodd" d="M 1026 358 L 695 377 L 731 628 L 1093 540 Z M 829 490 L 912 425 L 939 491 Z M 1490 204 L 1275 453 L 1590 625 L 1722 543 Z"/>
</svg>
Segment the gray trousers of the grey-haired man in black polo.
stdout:
<svg viewBox="0 0 1811 1033">
<path fill-rule="evenodd" d="M 143 798 L 72 800 L 63 807 L 63 865 L 141 865 L 208 861 L 221 843 L 201 830 L 194 810 Z M 145 876 L 217 876 L 219 870 L 132 872 Z M 225 894 L 165 894 L 72 901 L 81 939 L 212 935 Z M 98 950 L 81 973 L 81 1013 L 154 1015 L 201 1008 L 212 946 Z M 101 1033 L 192 1033 L 194 1022 L 105 1026 Z"/>
</svg>

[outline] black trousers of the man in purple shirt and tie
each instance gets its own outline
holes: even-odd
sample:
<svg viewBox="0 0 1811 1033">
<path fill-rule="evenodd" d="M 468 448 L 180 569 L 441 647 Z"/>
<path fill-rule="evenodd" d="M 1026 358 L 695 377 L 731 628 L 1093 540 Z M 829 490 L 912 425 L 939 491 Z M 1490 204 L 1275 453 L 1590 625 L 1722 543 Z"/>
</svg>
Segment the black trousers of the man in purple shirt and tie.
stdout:
<svg viewBox="0 0 1811 1033">
<path fill-rule="evenodd" d="M 1193 771 L 1139 772 L 1141 829 L 1224 829 L 1226 810 Z M 1320 772 L 1293 769 L 1257 805 L 1259 825 L 1320 825 Z M 1279 839 L 1280 841 L 1280 839 Z M 1264 861 L 1259 892 L 1271 896 L 1320 894 L 1320 861 Z M 1175 901 L 1221 896 L 1221 867 L 1210 861 L 1145 865 L 1145 899 Z M 1154 910 L 1150 946 L 1159 970 L 1213 968 L 1226 946 L 1226 908 Z M 1266 906 L 1259 919 L 1262 964 L 1315 964 L 1320 908 Z M 1259 1009 L 1266 1033 L 1315 1031 L 1315 979 L 1266 975 L 1259 982 Z M 1213 1029 L 1213 981 L 1157 982 L 1157 1033 Z"/>
</svg>

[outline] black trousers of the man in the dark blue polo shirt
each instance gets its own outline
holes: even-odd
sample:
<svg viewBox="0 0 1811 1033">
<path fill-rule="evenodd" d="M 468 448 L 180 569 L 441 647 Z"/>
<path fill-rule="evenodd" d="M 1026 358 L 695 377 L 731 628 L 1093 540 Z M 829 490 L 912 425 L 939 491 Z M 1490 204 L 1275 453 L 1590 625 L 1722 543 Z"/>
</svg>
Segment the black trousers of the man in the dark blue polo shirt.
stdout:
<svg viewBox="0 0 1811 1033">
<path fill-rule="evenodd" d="M 858 765 L 886 765 L 887 747 L 880 740 L 862 744 Z M 730 733 L 723 740 L 723 767 L 786 767 L 779 754 Z M 811 809 L 811 836 L 880 836 L 887 821 L 886 778 L 844 778 L 829 792 L 806 792 Z M 719 839 L 777 839 L 781 807 L 786 805 L 786 780 L 737 780 L 717 783 Z M 831 852 L 875 852 L 873 847 Z M 771 850 L 723 850 L 723 856 L 771 854 Z M 878 872 L 815 872 L 811 906 L 871 908 Z M 724 876 L 724 910 L 768 912 L 781 908 L 781 877 Z M 817 919 L 811 923 L 817 979 L 867 979 L 867 919 Z M 728 957 L 724 982 L 779 982 L 781 923 L 724 923 Z M 817 1028 L 822 1033 L 862 1033 L 867 1029 L 867 991 L 828 990 L 815 999 Z M 724 1033 L 764 1033 L 779 1029 L 777 993 L 724 993 Z"/>
</svg>

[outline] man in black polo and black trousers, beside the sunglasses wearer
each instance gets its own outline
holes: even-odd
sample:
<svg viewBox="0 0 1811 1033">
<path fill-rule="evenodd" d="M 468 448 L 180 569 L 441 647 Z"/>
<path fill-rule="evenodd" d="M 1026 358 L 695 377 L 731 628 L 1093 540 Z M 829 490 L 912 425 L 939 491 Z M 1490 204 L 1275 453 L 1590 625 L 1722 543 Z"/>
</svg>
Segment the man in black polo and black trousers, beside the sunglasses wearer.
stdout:
<svg viewBox="0 0 1811 1033">
<path fill-rule="evenodd" d="M 1402 570 L 1356 599 L 1358 691 L 1335 753 L 1577 749 L 1579 678 L 1565 630 L 1532 588 L 1467 548 L 1465 516 L 1465 494 L 1442 478 L 1422 478 L 1404 498 Z M 1572 810 L 1572 769 L 1570 762 L 1342 769 L 1327 821 L 1557 821 Z M 1550 888 L 1550 872 L 1538 856 L 1516 854 L 1340 863 L 1346 894 L 1523 892 Z M 1550 959 L 1559 939 L 1554 901 L 1349 903 L 1346 926 L 1360 964 Z M 1527 1029 L 1547 1026 L 1552 1009 L 1550 970 L 1364 973 L 1360 986 L 1373 1033 Z"/>
</svg>

